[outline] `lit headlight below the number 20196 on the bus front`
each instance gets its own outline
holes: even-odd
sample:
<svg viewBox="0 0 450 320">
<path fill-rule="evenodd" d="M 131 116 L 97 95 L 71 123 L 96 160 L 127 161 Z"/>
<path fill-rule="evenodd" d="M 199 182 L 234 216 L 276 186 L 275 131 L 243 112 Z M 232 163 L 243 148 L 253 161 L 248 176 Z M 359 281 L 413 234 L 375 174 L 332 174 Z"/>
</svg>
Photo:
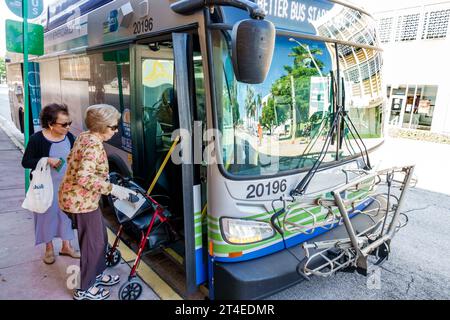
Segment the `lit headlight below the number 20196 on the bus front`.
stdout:
<svg viewBox="0 0 450 320">
<path fill-rule="evenodd" d="M 232 244 L 259 242 L 275 235 L 270 223 L 263 221 L 222 218 L 220 224 L 224 239 Z"/>
</svg>

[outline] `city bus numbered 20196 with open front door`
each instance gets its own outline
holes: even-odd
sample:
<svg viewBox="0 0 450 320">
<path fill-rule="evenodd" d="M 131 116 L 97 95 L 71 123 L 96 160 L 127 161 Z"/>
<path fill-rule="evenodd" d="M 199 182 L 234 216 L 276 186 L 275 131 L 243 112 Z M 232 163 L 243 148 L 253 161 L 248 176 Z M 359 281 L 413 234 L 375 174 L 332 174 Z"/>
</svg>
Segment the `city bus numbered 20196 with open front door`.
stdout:
<svg viewBox="0 0 450 320">
<path fill-rule="evenodd" d="M 371 193 L 394 173 L 406 189 L 412 172 L 372 175 L 386 114 L 369 13 L 340 0 L 60 0 L 40 23 L 35 102 L 67 104 L 75 135 L 88 106 L 116 107 L 111 172 L 148 188 L 182 137 L 154 193 L 179 222 L 186 292 L 258 299 L 387 257 L 400 218 L 392 206 L 389 232 L 367 236 L 392 209 Z M 19 128 L 21 70 L 11 58 Z"/>
</svg>

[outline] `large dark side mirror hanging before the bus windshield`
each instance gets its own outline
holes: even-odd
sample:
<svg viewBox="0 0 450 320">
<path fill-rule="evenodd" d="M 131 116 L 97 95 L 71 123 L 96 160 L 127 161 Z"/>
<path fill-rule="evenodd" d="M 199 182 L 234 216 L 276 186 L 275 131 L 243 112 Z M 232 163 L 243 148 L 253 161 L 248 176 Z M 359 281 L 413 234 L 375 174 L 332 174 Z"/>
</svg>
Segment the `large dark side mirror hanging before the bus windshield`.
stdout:
<svg viewBox="0 0 450 320">
<path fill-rule="evenodd" d="M 232 61 L 236 79 L 249 84 L 263 83 L 272 64 L 275 26 L 267 20 L 237 22 L 232 33 Z"/>
</svg>

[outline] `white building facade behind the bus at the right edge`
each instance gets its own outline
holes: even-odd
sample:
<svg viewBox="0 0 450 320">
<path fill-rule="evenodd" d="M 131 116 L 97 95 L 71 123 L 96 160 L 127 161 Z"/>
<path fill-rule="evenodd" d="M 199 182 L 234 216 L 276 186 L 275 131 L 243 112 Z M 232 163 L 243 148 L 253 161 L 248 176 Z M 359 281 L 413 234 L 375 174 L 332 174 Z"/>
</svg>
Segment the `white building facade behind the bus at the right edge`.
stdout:
<svg viewBox="0 0 450 320">
<path fill-rule="evenodd" d="M 388 122 L 450 134 L 450 1 L 374 13 L 384 49 Z"/>
</svg>

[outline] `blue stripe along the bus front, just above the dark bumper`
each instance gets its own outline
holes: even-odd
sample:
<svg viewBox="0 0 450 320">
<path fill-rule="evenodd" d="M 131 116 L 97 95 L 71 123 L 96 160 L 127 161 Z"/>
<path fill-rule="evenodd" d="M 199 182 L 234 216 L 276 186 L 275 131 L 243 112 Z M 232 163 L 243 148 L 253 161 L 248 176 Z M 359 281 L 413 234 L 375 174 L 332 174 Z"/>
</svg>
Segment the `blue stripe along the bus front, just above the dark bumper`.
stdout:
<svg viewBox="0 0 450 320">
<path fill-rule="evenodd" d="M 355 208 L 355 211 L 361 211 L 364 210 L 365 208 L 367 208 L 368 206 L 370 206 L 373 202 L 372 198 L 369 198 L 367 200 L 365 200 L 363 203 L 361 203 L 360 205 L 358 205 Z M 353 218 L 355 215 L 357 215 L 357 213 L 349 213 L 349 217 Z M 317 230 L 312 233 L 312 234 L 299 234 L 297 236 L 294 236 L 292 238 L 289 238 L 286 240 L 286 246 L 287 248 L 291 248 L 294 246 L 298 246 L 299 244 L 308 241 L 312 238 L 315 238 L 321 234 L 324 234 L 326 232 L 328 232 L 330 230 L 324 229 L 324 228 L 317 228 Z M 237 258 L 228 258 L 228 257 L 214 257 L 214 259 L 218 262 L 242 262 L 242 261 L 247 261 L 247 260 L 252 260 L 252 259 L 256 259 L 256 258 L 260 258 L 263 256 L 267 256 L 269 254 L 278 252 L 278 251 L 282 251 L 286 249 L 283 241 L 280 241 L 274 245 L 271 245 L 269 247 L 266 248 L 262 248 L 260 250 L 257 251 L 253 251 L 253 252 L 249 252 L 246 254 L 243 254 L 240 257 Z"/>
</svg>

